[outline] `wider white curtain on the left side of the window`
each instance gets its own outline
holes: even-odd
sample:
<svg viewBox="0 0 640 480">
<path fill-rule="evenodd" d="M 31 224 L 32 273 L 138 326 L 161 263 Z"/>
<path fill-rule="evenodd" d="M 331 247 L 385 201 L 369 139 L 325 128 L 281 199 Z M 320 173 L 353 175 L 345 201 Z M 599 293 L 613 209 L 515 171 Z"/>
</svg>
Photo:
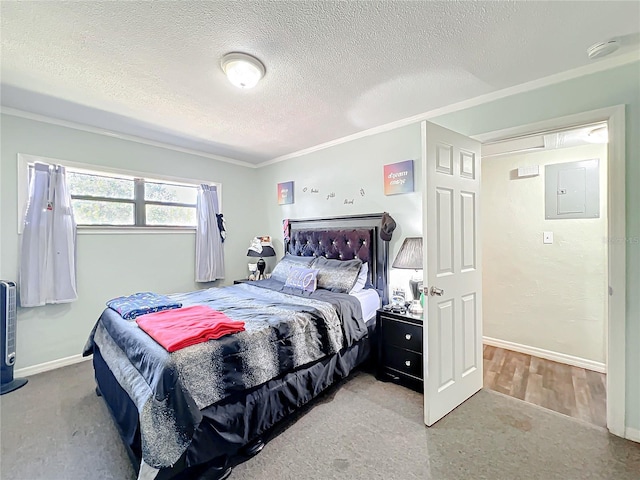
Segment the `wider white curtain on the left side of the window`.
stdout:
<svg viewBox="0 0 640 480">
<path fill-rule="evenodd" d="M 36 163 L 20 254 L 20 305 L 67 303 L 76 290 L 76 223 L 65 168 Z"/>
</svg>

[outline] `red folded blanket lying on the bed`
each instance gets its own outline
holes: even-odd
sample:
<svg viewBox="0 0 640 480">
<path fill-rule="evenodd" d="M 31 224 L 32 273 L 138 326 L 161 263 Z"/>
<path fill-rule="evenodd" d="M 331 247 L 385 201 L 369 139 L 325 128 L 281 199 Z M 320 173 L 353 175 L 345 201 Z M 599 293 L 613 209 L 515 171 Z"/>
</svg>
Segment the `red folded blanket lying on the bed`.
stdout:
<svg viewBox="0 0 640 480">
<path fill-rule="evenodd" d="M 244 322 L 205 305 L 148 313 L 136 322 L 168 352 L 244 331 Z"/>
</svg>

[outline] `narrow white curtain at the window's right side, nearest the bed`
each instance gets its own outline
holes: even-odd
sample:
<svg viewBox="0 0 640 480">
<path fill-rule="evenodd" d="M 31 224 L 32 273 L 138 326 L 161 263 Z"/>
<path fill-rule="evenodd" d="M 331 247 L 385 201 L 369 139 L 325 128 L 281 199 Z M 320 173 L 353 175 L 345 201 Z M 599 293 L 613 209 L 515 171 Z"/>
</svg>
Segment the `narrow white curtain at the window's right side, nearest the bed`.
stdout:
<svg viewBox="0 0 640 480">
<path fill-rule="evenodd" d="M 196 228 L 196 282 L 212 282 L 224 278 L 224 252 L 216 214 L 218 189 L 200 185 L 198 189 L 198 226 Z"/>
</svg>

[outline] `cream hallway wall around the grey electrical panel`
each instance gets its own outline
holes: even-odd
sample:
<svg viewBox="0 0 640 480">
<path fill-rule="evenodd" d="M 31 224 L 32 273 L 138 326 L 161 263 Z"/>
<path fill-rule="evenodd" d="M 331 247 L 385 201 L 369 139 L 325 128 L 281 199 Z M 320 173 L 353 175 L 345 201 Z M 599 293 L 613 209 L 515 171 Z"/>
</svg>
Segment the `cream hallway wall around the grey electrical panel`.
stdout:
<svg viewBox="0 0 640 480">
<path fill-rule="evenodd" d="M 484 335 L 605 362 L 606 145 L 482 161 Z M 600 218 L 545 219 L 545 165 L 600 159 Z M 518 167 L 540 175 L 517 178 Z M 554 242 L 542 242 L 544 231 Z"/>
</svg>

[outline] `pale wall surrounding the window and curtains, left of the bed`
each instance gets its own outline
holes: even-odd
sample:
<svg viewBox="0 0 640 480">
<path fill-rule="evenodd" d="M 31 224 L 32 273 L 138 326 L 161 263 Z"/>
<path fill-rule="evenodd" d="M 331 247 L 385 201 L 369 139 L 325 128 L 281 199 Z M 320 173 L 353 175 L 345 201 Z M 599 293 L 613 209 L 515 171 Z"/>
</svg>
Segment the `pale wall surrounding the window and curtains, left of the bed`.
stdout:
<svg viewBox="0 0 640 480">
<path fill-rule="evenodd" d="M 246 272 L 246 252 L 253 218 L 262 203 L 251 207 L 247 192 L 257 171 L 210 158 L 97 135 L 9 115 L 1 117 L 0 277 L 18 276 L 17 154 L 27 153 L 72 162 L 222 183 L 227 224 L 224 244 L 230 284 Z M 127 233 L 78 235 L 76 302 L 18 310 L 16 368 L 59 360 L 82 352 L 105 301 L 136 291 L 171 293 L 207 284 L 194 281 L 194 233 Z"/>
</svg>

